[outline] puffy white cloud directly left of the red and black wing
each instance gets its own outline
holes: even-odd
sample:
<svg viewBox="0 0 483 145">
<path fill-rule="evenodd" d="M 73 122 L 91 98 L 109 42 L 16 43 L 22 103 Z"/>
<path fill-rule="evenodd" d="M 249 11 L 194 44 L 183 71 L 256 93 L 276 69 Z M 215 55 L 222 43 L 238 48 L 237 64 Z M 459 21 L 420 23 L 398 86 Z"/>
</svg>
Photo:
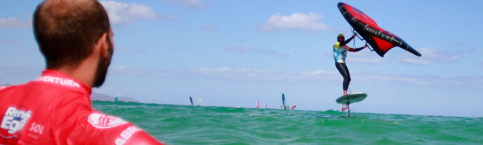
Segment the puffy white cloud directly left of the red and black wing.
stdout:
<svg viewBox="0 0 483 145">
<path fill-rule="evenodd" d="M 320 32 L 330 30 L 326 24 L 317 22 L 322 19 L 322 14 L 317 13 L 294 13 L 291 15 L 273 14 L 258 29 L 266 32 L 284 31 L 286 29 L 301 29 L 307 32 Z"/>
</svg>

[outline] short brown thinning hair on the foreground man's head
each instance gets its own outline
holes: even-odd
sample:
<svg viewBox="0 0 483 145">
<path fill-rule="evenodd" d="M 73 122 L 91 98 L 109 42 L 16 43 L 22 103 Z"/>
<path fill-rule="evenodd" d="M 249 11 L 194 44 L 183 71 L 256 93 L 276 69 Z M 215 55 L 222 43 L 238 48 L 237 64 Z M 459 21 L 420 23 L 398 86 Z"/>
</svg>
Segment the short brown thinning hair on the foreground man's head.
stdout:
<svg viewBox="0 0 483 145">
<path fill-rule="evenodd" d="M 35 10 L 33 29 L 47 69 L 53 69 L 76 67 L 110 25 L 97 0 L 45 0 Z"/>
</svg>

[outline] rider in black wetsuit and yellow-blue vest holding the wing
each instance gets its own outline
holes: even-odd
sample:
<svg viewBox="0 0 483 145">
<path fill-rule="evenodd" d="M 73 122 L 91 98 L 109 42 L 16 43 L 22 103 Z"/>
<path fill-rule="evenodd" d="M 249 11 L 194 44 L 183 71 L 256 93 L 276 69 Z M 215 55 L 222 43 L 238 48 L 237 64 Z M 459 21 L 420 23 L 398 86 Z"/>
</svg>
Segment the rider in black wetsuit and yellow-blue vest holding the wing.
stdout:
<svg viewBox="0 0 483 145">
<path fill-rule="evenodd" d="M 342 77 L 344 77 L 344 81 L 342 83 L 344 95 L 347 95 L 347 88 L 349 87 L 349 82 L 351 82 L 351 75 L 349 73 L 349 69 L 347 69 L 347 66 L 345 65 L 347 51 L 357 52 L 368 47 L 367 44 L 359 48 L 351 48 L 347 46 L 346 44 L 351 42 L 351 40 L 354 39 L 355 36 L 357 36 L 357 33 L 354 33 L 351 38 L 344 41 L 344 35 L 339 34 L 337 35 L 337 43 L 334 43 L 334 46 L 332 47 L 332 51 L 334 52 L 335 67 L 337 68 L 337 70 L 339 70 L 339 73 L 341 73 Z"/>
</svg>

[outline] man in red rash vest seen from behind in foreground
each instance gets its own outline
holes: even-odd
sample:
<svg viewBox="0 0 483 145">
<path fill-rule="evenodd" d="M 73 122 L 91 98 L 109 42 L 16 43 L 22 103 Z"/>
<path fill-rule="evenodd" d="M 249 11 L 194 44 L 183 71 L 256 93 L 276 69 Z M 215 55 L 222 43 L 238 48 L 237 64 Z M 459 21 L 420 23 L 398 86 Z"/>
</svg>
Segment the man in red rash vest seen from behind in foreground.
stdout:
<svg viewBox="0 0 483 145">
<path fill-rule="evenodd" d="M 0 88 L 0 145 L 162 145 L 140 128 L 91 108 L 104 82 L 113 32 L 96 0 L 46 0 L 33 29 L 47 69 Z"/>
</svg>

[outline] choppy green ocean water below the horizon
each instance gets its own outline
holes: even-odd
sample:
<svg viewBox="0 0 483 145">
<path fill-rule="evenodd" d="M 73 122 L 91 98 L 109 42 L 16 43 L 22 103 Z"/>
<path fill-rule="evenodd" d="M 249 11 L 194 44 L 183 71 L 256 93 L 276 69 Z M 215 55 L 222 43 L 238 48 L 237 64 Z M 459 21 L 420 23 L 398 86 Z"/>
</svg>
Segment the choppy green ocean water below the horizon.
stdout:
<svg viewBox="0 0 483 145">
<path fill-rule="evenodd" d="M 483 117 L 93 101 L 168 145 L 483 145 Z"/>
</svg>

